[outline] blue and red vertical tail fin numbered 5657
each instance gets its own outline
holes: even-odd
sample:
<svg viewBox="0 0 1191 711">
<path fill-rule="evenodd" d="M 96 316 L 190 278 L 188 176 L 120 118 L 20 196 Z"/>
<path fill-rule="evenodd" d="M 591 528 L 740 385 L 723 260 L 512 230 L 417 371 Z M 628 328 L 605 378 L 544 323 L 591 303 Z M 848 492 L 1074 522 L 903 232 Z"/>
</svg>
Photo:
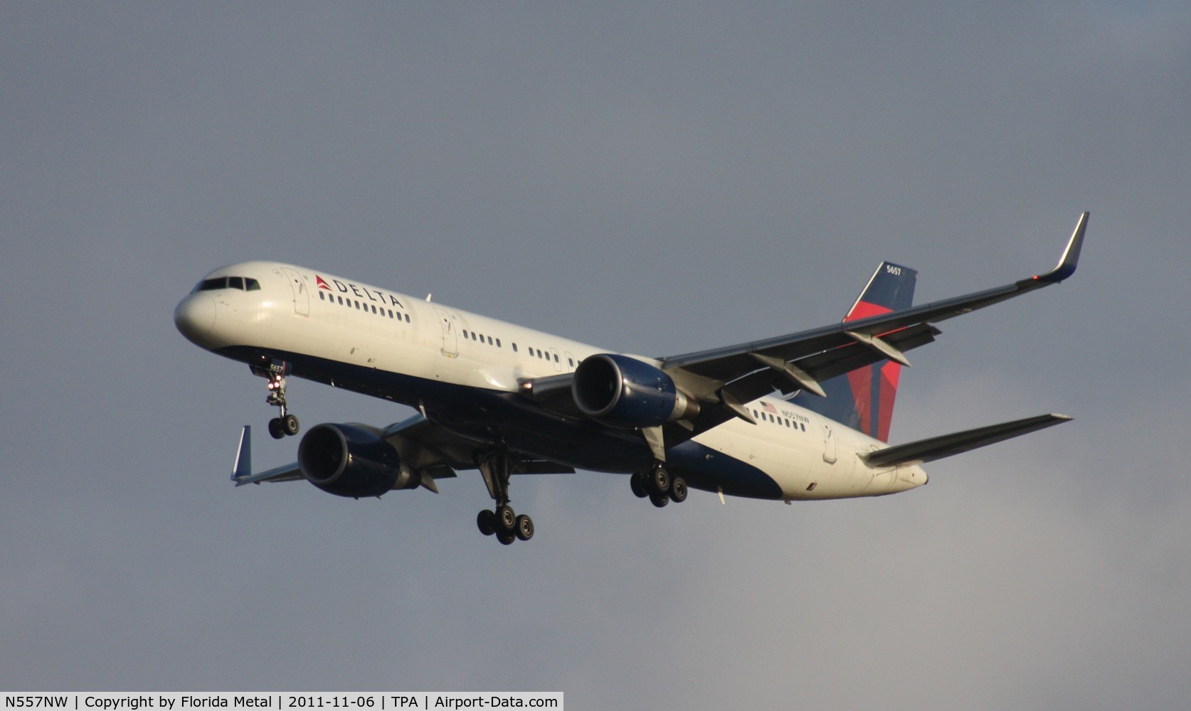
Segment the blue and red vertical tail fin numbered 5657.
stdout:
<svg viewBox="0 0 1191 711">
<path fill-rule="evenodd" d="M 918 273 L 913 269 L 881 262 L 843 318 L 844 323 L 909 308 L 913 303 L 917 277 Z M 899 363 L 879 361 L 823 381 L 825 398 L 803 392 L 794 397 L 794 403 L 869 437 L 888 442 L 900 374 Z"/>
</svg>

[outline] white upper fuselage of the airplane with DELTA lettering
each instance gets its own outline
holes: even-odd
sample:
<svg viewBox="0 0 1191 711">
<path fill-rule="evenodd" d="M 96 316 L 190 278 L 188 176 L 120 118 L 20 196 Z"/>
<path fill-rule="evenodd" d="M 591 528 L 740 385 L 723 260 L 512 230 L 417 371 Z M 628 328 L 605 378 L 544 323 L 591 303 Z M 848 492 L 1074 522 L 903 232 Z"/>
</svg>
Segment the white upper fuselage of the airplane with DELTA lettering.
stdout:
<svg viewBox="0 0 1191 711">
<path fill-rule="evenodd" d="M 205 281 L 227 276 L 256 280 L 258 288 L 197 287 L 175 313 L 179 329 L 192 342 L 250 363 L 269 354 L 310 358 L 324 364 L 316 380 L 412 406 L 430 398 L 425 393 L 435 383 L 454 386 L 450 397 L 456 400 L 467 393 L 516 394 L 530 379 L 569 373 L 588 356 L 612 353 L 289 264 L 244 262 L 217 269 Z M 375 373 L 378 382 L 389 385 L 341 378 L 339 366 L 353 367 L 356 374 Z M 411 387 L 393 386 L 382 375 L 400 376 L 399 382 Z M 746 407 L 757 424 L 732 418 L 692 439 L 705 448 L 699 457 L 711 470 L 711 484 L 701 488 L 732 493 L 727 479 L 723 487 L 716 484 L 721 457 L 724 470 L 743 464 L 762 473 L 773 482 L 763 498 L 787 503 L 890 494 L 927 482 L 918 466 L 866 466 L 856 455 L 881 449 L 883 442 L 778 397 Z M 642 448 L 648 451 L 644 443 Z M 568 461 L 556 448 L 528 454 L 576 468 L 631 470 L 604 461 Z"/>
</svg>

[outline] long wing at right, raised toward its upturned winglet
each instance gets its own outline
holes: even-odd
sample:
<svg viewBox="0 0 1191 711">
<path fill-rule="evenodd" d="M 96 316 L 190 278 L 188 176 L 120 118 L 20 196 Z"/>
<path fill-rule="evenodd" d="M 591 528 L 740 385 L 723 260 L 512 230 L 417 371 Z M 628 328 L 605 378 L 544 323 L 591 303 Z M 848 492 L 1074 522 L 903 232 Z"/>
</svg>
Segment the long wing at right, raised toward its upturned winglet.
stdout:
<svg viewBox="0 0 1191 711">
<path fill-rule="evenodd" d="M 931 324 L 1058 283 L 1074 274 L 1087 218 L 1087 212 L 1080 216 L 1059 263 L 1046 274 L 869 318 L 668 356 L 660 358 L 662 369 L 692 395 L 703 400 L 718 399 L 742 416 L 743 408 L 735 407 L 734 401 L 747 403 L 761 397 L 771 392 L 774 381 L 788 383 L 790 387 L 784 388 L 787 391 L 805 389 L 822 395 L 819 381 L 848 370 L 886 358 L 908 366 L 905 351 L 930 343 L 940 333 Z"/>
</svg>

